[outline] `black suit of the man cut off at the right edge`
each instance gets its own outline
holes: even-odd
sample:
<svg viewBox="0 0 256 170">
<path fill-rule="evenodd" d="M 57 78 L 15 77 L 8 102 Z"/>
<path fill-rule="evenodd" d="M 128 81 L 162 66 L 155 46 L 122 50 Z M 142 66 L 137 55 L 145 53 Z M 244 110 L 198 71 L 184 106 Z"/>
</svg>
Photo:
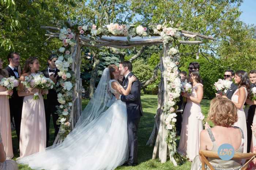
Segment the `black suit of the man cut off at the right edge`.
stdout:
<svg viewBox="0 0 256 170">
<path fill-rule="evenodd" d="M 255 87 L 256 85 L 252 84 L 251 88 Z M 256 105 L 251 105 L 249 110 L 248 110 L 248 116 L 247 116 L 247 121 L 246 121 L 246 126 L 247 126 L 247 152 L 250 152 L 250 147 L 251 147 L 251 140 L 252 140 L 252 121 L 255 113 Z"/>
</svg>

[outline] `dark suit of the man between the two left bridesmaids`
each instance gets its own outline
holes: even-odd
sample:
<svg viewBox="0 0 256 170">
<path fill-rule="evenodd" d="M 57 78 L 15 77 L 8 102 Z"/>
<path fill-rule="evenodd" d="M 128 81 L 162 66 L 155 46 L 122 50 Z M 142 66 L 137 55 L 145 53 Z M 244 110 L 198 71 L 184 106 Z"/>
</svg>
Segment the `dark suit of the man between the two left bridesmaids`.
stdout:
<svg viewBox="0 0 256 170">
<path fill-rule="evenodd" d="M 5 69 L 8 71 L 9 76 L 14 76 L 17 79 L 19 78 L 19 77 L 16 77 L 14 71 L 9 66 L 7 66 Z M 15 131 L 19 141 L 23 97 L 18 96 L 18 91 L 16 88 L 13 89 L 12 98 L 9 99 L 9 105 L 10 105 L 11 122 L 12 122 L 12 117 L 14 117 Z"/>
</svg>

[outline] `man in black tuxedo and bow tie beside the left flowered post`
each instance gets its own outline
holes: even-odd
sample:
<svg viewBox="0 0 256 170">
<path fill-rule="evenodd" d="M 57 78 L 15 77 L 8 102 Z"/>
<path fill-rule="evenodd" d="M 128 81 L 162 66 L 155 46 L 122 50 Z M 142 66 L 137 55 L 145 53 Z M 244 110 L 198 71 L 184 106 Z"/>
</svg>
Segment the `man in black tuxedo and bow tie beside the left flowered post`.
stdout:
<svg viewBox="0 0 256 170">
<path fill-rule="evenodd" d="M 45 77 L 50 78 L 54 83 L 57 82 L 59 70 L 56 68 L 55 61 L 58 59 L 58 56 L 52 54 L 48 57 L 47 65 L 48 67 L 45 70 L 42 70 Z M 52 115 L 53 126 L 54 126 L 54 138 L 56 138 L 60 125 L 56 124 L 56 121 L 59 118 L 59 115 L 56 112 L 56 105 L 59 105 L 57 100 L 57 92 L 55 89 L 50 89 L 47 94 L 47 99 L 44 100 L 45 105 L 45 120 L 46 120 L 46 147 L 49 146 L 49 130 L 50 130 L 50 117 Z"/>
</svg>

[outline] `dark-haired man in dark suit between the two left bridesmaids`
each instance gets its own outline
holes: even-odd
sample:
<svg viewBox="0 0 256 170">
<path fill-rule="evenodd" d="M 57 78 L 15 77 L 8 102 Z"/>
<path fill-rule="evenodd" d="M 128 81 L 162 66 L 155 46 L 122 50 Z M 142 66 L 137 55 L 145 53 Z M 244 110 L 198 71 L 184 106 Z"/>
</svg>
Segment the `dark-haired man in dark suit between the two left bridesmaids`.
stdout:
<svg viewBox="0 0 256 170">
<path fill-rule="evenodd" d="M 11 52 L 7 56 L 7 60 L 9 62 L 9 65 L 5 68 L 9 76 L 14 76 L 16 79 L 18 79 L 21 75 L 21 71 L 18 68 L 20 65 L 20 55 L 16 52 Z M 19 143 L 19 134 L 20 134 L 20 123 L 21 123 L 21 113 L 22 113 L 22 105 L 23 105 L 23 97 L 18 96 L 17 89 L 13 89 L 12 97 L 9 99 L 9 105 L 10 105 L 10 115 L 11 115 L 11 122 L 14 118 L 14 124 L 15 124 L 15 131 L 18 137 L 18 143 Z"/>
</svg>

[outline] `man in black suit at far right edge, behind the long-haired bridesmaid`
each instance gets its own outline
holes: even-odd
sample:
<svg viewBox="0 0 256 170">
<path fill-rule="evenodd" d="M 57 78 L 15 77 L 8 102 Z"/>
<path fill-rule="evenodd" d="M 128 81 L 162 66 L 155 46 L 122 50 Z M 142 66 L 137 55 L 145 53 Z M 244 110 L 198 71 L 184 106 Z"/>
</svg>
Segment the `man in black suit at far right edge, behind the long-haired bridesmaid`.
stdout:
<svg viewBox="0 0 256 170">
<path fill-rule="evenodd" d="M 249 79 L 251 81 L 251 88 L 255 87 L 256 86 L 256 70 L 251 70 L 249 72 Z M 256 105 L 255 105 L 255 101 L 252 101 L 252 100 L 249 100 L 249 99 L 246 100 L 246 103 L 250 105 L 249 110 L 248 110 L 247 121 L 246 121 L 246 125 L 247 125 L 247 152 L 249 153 L 250 152 L 250 146 L 251 146 L 251 140 L 252 140 L 251 125 L 252 125 Z"/>
</svg>

